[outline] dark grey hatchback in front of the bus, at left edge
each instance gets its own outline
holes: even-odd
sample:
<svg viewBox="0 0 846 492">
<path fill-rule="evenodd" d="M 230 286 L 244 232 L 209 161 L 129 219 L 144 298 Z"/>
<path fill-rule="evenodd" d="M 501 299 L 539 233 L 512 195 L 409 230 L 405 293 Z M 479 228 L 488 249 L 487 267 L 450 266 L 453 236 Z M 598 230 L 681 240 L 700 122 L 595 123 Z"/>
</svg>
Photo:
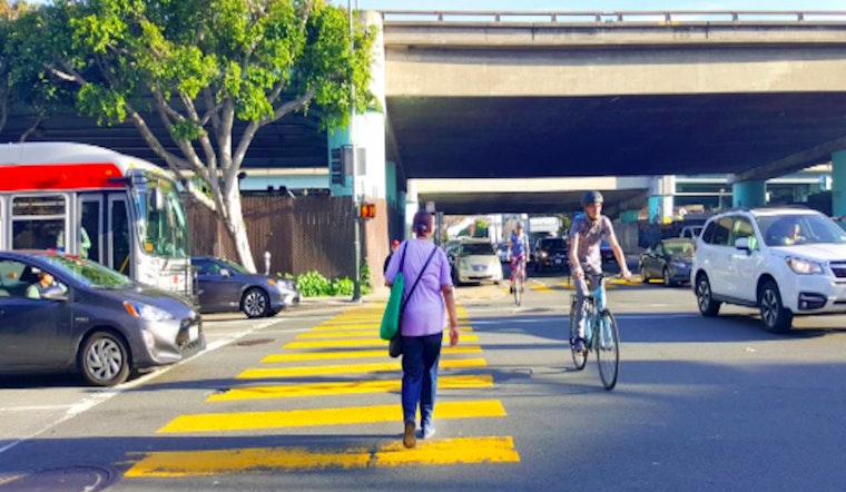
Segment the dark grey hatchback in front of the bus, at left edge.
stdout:
<svg viewBox="0 0 846 492">
<path fill-rule="evenodd" d="M 190 301 L 55 250 L 0 252 L 0 372 L 79 371 L 98 386 L 206 346 Z"/>
</svg>

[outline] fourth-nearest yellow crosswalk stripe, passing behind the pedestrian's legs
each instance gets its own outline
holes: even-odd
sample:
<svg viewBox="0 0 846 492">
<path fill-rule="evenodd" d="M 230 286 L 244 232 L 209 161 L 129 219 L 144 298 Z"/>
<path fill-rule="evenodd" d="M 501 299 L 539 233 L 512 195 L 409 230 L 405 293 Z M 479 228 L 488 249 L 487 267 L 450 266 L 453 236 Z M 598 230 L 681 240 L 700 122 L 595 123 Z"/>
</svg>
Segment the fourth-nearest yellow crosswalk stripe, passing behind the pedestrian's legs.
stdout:
<svg viewBox="0 0 846 492">
<path fill-rule="evenodd" d="M 441 368 L 468 368 L 486 367 L 484 358 L 454 358 L 441 360 Z M 295 367 L 258 367 L 248 368 L 235 376 L 238 380 L 260 380 L 269 377 L 302 377 L 325 376 L 331 374 L 377 373 L 387 371 L 402 371 L 399 360 L 388 362 L 374 362 L 370 364 L 338 364 L 338 365 L 302 365 Z"/>
</svg>

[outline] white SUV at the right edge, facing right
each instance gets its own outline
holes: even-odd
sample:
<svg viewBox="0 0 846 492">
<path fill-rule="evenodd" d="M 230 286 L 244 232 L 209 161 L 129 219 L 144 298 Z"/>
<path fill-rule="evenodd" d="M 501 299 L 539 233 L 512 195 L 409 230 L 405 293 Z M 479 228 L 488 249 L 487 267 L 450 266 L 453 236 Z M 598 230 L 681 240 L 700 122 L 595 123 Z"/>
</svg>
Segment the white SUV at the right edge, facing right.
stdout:
<svg viewBox="0 0 846 492">
<path fill-rule="evenodd" d="M 725 211 L 705 224 L 690 281 L 704 316 L 758 307 L 768 331 L 788 332 L 794 315 L 846 313 L 846 233 L 805 208 Z"/>
</svg>

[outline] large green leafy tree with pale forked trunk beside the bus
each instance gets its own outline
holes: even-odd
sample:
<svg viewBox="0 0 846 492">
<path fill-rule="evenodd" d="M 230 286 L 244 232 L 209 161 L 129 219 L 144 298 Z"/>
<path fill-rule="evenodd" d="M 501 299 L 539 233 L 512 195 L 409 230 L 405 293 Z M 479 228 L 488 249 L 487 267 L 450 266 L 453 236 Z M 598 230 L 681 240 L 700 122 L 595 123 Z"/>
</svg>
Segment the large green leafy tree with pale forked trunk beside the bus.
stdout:
<svg viewBox="0 0 846 492">
<path fill-rule="evenodd" d="M 57 0 L 33 16 L 29 46 L 57 85 L 75 86 L 77 110 L 135 125 L 252 272 L 237 176 L 256 134 L 312 106 L 324 129 L 337 128 L 351 105 L 373 101 L 374 32 L 355 22 L 351 48 L 347 11 L 324 0 Z"/>
</svg>

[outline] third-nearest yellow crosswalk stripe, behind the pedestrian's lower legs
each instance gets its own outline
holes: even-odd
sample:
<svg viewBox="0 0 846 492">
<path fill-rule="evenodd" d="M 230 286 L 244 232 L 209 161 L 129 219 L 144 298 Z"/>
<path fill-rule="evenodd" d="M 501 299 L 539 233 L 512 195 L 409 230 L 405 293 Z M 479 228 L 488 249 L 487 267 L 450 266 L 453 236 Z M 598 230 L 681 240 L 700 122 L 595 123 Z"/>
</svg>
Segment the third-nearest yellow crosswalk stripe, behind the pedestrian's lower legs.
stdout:
<svg viewBox="0 0 846 492">
<path fill-rule="evenodd" d="M 493 387 L 490 374 L 440 376 L 437 391 L 473 390 Z M 242 400 L 287 398 L 301 396 L 335 396 L 365 393 L 390 393 L 402 390 L 402 381 L 348 381 L 333 383 L 291 383 L 274 386 L 236 387 L 226 393 L 214 394 L 207 402 L 230 402 Z"/>
</svg>

